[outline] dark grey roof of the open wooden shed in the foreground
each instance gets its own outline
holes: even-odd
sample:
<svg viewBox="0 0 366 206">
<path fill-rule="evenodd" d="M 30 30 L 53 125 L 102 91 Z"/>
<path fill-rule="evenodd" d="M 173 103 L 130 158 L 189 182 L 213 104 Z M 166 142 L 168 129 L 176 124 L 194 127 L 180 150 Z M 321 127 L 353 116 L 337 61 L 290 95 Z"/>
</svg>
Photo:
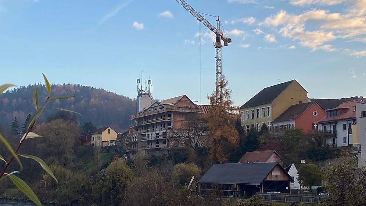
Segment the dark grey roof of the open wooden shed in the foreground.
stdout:
<svg viewBox="0 0 366 206">
<path fill-rule="evenodd" d="M 198 183 L 261 184 L 277 164 L 279 165 L 277 162 L 213 164 Z"/>
</svg>

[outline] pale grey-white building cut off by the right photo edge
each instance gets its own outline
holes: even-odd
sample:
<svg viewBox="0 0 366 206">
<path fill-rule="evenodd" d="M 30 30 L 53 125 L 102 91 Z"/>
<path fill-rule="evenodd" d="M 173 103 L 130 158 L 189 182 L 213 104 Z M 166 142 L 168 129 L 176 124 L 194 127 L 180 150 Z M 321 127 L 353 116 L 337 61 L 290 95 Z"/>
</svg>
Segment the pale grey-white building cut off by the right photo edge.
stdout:
<svg viewBox="0 0 366 206">
<path fill-rule="evenodd" d="M 366 166 L 366 103 L 356 104 L 357 142 L 361 144 L 361 153 L 358 153 L 358 166 Z M 365 114 L 366 115 L 366 114 Z"/>
</svg>

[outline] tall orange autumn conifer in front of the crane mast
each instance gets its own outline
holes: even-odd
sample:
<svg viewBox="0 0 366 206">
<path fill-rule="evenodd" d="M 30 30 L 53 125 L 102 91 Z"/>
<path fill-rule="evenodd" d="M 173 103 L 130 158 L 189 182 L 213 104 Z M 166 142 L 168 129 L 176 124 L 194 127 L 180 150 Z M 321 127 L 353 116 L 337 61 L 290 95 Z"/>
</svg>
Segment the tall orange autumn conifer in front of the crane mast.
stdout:
<svg viewBox="0 0 366 206">
<path fill-rule="evenodd" d="M 238 143 L 239 135 L 235 129 L 237 107 L 232 106 L 231 89 L 227 88 L 225 76 L 217 82 L 217 87 L 208 99 L 210 110 L 207 115 L 208 135 L 210 136 L 210 155 L 214 163 L 223 163 L 227 160 L 229 150 Z"/>
</svg>

